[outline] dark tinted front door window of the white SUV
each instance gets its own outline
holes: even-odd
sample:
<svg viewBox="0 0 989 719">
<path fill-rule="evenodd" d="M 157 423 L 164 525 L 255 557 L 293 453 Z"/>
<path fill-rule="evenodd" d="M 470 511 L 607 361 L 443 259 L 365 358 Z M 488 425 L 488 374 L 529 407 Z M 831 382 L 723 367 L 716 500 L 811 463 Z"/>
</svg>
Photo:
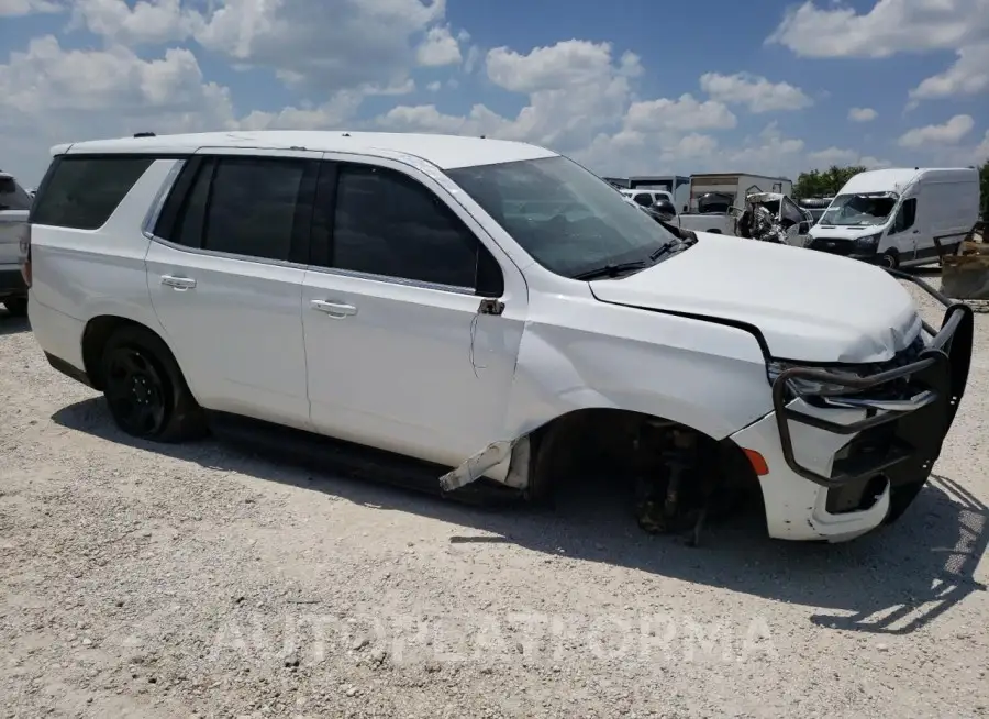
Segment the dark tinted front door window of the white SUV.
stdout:
<svg viewBox="0 0 989 719">
<path fill-rule="evenodd" d="M 415 180 L 380 167 L 341 166 L 332 266 L 474 288 L 479 245 Z"/>
</svg>

